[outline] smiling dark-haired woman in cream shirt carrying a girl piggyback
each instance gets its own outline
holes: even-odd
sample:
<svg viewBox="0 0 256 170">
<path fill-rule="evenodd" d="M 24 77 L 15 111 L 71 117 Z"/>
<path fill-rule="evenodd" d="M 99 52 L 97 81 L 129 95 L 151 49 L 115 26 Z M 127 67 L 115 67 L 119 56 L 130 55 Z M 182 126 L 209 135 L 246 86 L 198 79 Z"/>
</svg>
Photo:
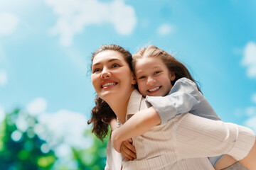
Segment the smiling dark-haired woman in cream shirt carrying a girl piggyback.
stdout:
<svg viewBox="0 0 256 170">
<path fill-rule="evenodd" d="M 112 117 L 125 123 L 127 117 L 146 108 L 144 98 L 134 89 L 131 60 L 129 52 L 118 45 L 102 46 L 92 55 L 92 84 L 100 98 L 90 123 L 100 139 L 107 134 Z M 256 167 L 250 161 L 256 158 L 252 130 L 189 113 L 134 137 L 133 145 L 137 159 L 127 162 L 109 142 L 106 169 L 213 169 L 207 157 L 220 154 L 230 154 L 248 169 Z"/>
</svg>

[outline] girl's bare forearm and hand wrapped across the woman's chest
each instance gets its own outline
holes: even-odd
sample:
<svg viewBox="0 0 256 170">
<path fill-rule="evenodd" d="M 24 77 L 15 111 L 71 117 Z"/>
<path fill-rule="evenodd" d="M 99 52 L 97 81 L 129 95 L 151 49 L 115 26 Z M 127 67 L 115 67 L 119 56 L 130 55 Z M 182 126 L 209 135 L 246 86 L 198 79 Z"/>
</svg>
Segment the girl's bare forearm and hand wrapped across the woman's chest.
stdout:
<svg viewBox="0 0 256 170">
<path fill-rule="evenodd" d="M 114 149 L 121 152 L 122 141 L 142 135 L 159 123 L 161 123 L 161 119 L 153 107 L 139 111 L 124 125 L 112 132 L 111 141 Z"/>
</svg>

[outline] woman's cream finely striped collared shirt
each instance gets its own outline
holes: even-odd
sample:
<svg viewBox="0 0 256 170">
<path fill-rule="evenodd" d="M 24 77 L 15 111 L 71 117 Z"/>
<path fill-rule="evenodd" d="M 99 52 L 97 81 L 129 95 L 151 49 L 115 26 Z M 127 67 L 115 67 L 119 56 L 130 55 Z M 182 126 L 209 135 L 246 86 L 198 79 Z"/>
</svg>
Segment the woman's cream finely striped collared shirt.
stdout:
<svg viewBox="0 0 256 170">
<path fill-rule="evenodd" d="M 145 108 L 145 99 L 134 90 L 127 118 Z M 105 169 L 213 169 L 208 157 L 230 154 L 243 159 L 254 145 L 255 134 L 240 125 L 184 113 L 132 140 L 137 159 L 126 161 L 109 141 Z"/>
</svg>

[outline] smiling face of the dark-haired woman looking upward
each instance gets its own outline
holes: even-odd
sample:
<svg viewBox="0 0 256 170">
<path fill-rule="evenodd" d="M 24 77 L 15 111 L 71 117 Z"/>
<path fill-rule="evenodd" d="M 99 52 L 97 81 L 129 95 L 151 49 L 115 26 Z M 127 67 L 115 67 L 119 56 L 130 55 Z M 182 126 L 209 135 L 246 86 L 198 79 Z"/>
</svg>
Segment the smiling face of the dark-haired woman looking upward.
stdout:
<svg viewBox="0 0 256 170">
<path fill-rule="evenodd" d="M 95 55 L 92 61 L 92 85 L 105 101 L 124 98 L 134 89 L 136 80 L 122 53 L 106 50 Z"/>
</svg>

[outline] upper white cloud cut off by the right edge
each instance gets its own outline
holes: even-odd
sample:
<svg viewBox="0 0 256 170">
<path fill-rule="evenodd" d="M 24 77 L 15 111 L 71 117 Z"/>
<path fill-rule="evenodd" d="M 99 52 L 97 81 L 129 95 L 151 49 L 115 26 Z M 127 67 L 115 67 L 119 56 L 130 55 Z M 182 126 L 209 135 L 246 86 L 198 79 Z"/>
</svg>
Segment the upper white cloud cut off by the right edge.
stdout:
<svg viewBox="0 0 256 170">
<path fill-rule="evenodd" d="M 256 43 L 247 42 L 242 58 L 242 65 L 247 67 L 247 77 L 256 78 Z"/>
</svg>

